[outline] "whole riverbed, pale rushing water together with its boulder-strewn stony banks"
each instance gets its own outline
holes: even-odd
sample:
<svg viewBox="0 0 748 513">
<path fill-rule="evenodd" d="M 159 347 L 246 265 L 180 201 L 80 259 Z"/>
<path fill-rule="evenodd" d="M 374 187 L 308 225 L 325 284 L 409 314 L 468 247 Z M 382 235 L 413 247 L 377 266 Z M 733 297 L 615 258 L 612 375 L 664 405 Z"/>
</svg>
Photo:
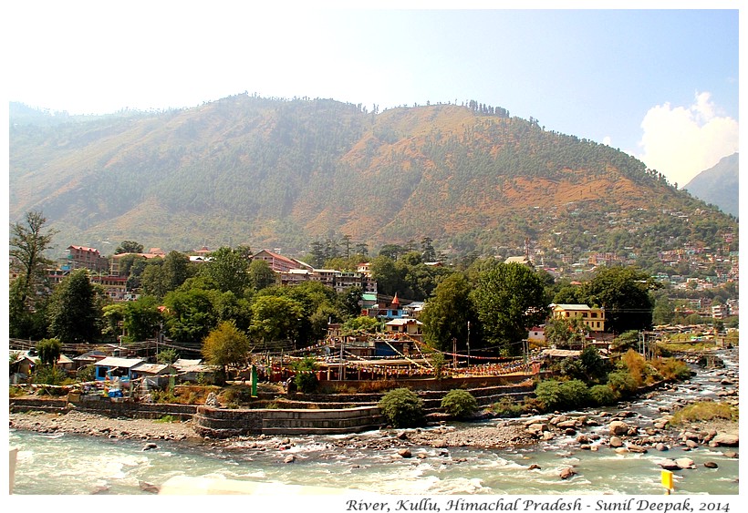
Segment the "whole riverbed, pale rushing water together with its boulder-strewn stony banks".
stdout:
<svg viewBox="0 0 748 513">
<path fill-rule="evenodd" d="M 616 407 L 422 429 L 146 443 L 11 427 L 14 494 L 151 494 L 187 476 L 386 495 L 662 495 L 666 468 L 674 494 L 737 495 L 735 426 L 663 426 L 680 405 L 736 402 L 738 350 L 718 355 L 723 367 Z"/>
</svg>

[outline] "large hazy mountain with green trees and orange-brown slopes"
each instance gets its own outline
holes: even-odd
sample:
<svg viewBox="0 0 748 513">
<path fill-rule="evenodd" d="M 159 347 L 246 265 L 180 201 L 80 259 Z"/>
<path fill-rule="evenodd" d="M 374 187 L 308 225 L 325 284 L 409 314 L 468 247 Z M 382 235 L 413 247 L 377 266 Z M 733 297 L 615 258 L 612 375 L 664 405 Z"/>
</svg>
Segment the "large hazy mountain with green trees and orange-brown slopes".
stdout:
<svg viewBox="0 0 748 513">
<path fill-rule="evenodd" d="M 429 238 L 455 255 L 529 244 L 568 257 L 716 247 L 738 232 L 626 153 L 474 101 L 369 112 L 244 94 L 56 123 L 13 112 L 10 219 L 42 210 L 63 248 L 290 255 L 347 235 L 371 251 Z"/>
</svg>

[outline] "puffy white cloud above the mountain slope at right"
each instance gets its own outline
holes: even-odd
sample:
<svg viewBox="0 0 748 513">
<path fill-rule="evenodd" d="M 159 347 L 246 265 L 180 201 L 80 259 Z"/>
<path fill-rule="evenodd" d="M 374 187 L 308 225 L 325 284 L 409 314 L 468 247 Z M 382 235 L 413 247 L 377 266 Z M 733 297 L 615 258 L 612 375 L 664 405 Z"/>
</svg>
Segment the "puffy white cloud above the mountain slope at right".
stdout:
<svg viewBox="0 0 748 513">
<path fill-rule="evenodd" d="M 738 122 L 721 116 L 708 92 L 697 93 L 690 107 L 650 108 L 641 128 L 641 152 L 629 153 L 679 188 L 739 148 Z"/>
</svg>

